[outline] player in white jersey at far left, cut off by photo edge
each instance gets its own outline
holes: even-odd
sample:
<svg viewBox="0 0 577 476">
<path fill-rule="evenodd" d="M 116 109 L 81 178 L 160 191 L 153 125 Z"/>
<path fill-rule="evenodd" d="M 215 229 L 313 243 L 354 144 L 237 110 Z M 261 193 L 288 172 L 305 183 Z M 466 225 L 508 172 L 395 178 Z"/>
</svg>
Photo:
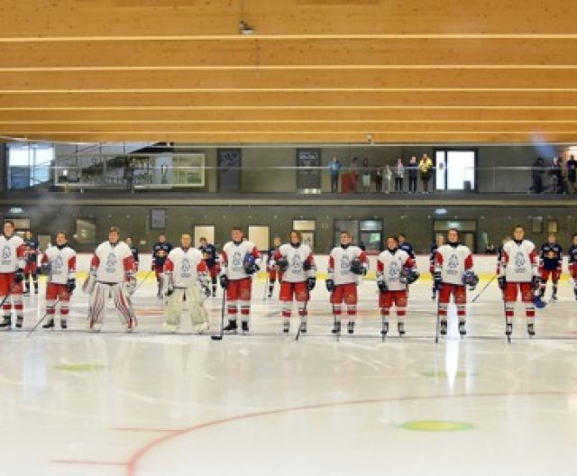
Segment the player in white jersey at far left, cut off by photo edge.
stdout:
<svg viewBox="0 0 577 476">
<path fill-rule="evenodd" d="M 26 266 L 26 246 L 23 239 L 14 234 L 14 222 L 6 220 L 4 236 L 0 236 L 0 302 L 4 321 L 0 328 L 12 327 L 12 305 L 16 311 L 16 327 L 21 328 L 24 321 L 22 281 Z"/>
</svg>

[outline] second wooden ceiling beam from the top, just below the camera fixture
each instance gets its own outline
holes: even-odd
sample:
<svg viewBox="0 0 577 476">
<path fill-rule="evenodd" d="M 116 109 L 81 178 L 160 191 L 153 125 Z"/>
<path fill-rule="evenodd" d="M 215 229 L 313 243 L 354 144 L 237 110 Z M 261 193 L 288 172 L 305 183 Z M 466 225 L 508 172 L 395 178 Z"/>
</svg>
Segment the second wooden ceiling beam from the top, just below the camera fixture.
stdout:
<svg viewBox="0 0 577 476">
<path fill-rule="evenodd" d="M 577 66 L 577 36 L 4 42 L 0 69 Z M 225 73 L 224 73 L 225 74 Z M 144 75 L 145 76 L 145 75 Z"/>
</svg>

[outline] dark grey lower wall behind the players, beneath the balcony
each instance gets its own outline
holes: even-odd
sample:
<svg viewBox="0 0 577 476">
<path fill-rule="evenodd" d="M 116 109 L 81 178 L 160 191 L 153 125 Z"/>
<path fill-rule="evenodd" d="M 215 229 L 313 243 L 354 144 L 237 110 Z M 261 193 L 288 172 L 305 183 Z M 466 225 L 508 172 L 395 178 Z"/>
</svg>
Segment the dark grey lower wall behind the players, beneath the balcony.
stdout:
<svg viewBox="0 0 577 476">
<path fill-rule="evenodd" d="M 194 200 L 191 201 L 194 203 Z M 569 205 L 569 204 L 568 204 Z M 575 231 L 577 213 L 574 208 L 547 207 L 541 209 L 529 207 L 486 207 L 486 206 L 449 206 L 444 220 L 476 220 L 477 252 L 484 251 L 485 233 L 489 243 L 499 244 L 502 236 L 510 233 L 514 224 L 524 224 L 528 234 L 538 243 L 545 242 L 546 222 L 557 219 L 559 222 L 559 242 L 568 247 L 571 235 Z M 9 206 L 0 208 L 0 215 L 10 216 Z M 31 219 L 35 233 L 55 233 L 59 230 L 72 235 L 75 230 L 75 218 L 93 218 L 96 220 L 97 241 L 105 240 L 107 228 L 117 225 L 123 236 L 131 234 L 137 241 L 143 241 L 142 248 L 148 250 L 154 243 L 160 230 L 151 230 L 149 225 L 150 207 L 148 206 L 61 206 L 55 210 L 43 206 L 41 202 L 34 207 L 23 207 L 19 216 Z M 306 203 L 302 206 L 168 206 L 167 227 L 163 230 L 170 240 L 177 242 L 180 233 L 191 231 L 193 224 L 214 224 L 215 243 L 228 241 L 230 228 L 241 225 L 268 224 L 270 237 L 286 237 L 292 228 L 293 219 L 316 220 L 316 252 L 328 252 L 333 246 L 335 219 L 382 219 L 383 235 L 404 232 L 408 234 L 417 252 L 428 252 L 433 241 L 434 206 L 323 206 L 322 203 Z M 531 233 L 531 217 L 542 216 L 542 233 Z M 91 244 L 79 246 L 79 251 L 89 251 Z"/>
</svg>

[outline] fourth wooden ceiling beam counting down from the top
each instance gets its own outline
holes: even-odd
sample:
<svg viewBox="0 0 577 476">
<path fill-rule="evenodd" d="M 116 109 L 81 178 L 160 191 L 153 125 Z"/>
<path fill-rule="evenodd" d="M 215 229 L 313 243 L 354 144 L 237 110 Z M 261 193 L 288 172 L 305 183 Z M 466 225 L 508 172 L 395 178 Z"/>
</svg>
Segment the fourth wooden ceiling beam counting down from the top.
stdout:
<svg viewBox="0 0 577 476">
<path fill-rule="evenodd" d="M 133 106 L 202 106 L 226 109 L 270 107 L 273 109 L 296 107 L 422 107 L 435 106 L 548 106 L 577 105 L 577 92 L 206 92 L 206 93 L 0 93 L 0 108 L 4 107 L 110 107 Z"/>
</svg>

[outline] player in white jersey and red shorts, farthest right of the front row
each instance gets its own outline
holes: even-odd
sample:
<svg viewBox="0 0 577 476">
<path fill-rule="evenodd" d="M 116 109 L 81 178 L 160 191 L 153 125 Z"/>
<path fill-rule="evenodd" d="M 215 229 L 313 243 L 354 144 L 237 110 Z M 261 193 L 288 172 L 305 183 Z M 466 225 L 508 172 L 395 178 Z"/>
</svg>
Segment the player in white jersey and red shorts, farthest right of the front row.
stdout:
<svg viewBox="0 0 577 476">
<path fill-rule="evenodd" d="M 505 334 L 513 332 L 513 316 L 517 292 L 525 303 L 527 333 L 535 335 L 534 291 L 539 289 L 538 255 L 535 244 L 525 239 L 525 228 L 517 224 L 513 230 L 513 239 L 503 245 L 499 263 L 499 288 L 505 294 Z"/>
</svg>

